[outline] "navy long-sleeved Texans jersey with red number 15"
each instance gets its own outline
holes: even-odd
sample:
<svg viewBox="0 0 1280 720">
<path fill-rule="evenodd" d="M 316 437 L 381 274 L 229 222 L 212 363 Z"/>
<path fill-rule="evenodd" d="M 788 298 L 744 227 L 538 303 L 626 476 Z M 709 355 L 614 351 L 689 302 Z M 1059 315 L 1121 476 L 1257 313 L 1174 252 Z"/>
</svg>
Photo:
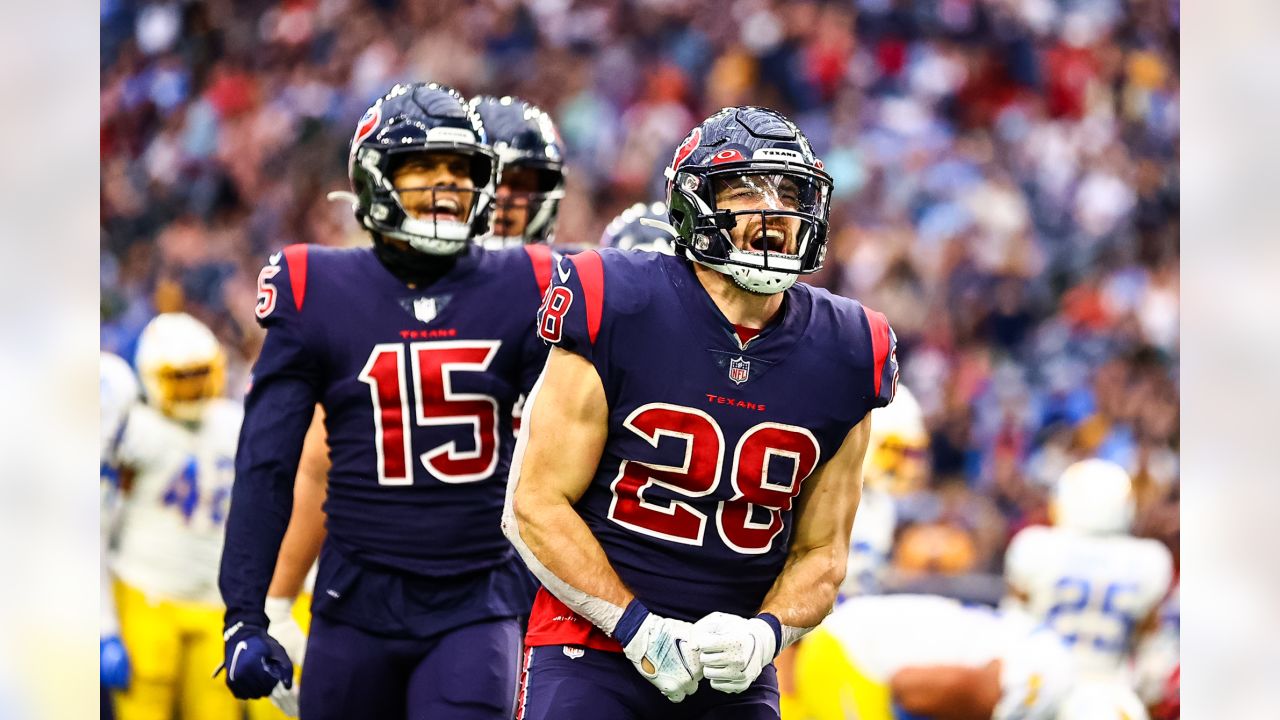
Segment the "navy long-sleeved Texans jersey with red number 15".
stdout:
<svg viewBox="0 0 1280 720">
<path fill-rule="evenodd" d="M 512 407 L 545 363 L 534 324 L 552 270 L 545 246 L 472 247 L 413 288 L 370 247 L 271 256 L 223 561 L 228 624 L 265 596 L 315 402 L 332 460 L 326 542 L 343 556 L 428 578 L 512 561 Z"/>
</svg>

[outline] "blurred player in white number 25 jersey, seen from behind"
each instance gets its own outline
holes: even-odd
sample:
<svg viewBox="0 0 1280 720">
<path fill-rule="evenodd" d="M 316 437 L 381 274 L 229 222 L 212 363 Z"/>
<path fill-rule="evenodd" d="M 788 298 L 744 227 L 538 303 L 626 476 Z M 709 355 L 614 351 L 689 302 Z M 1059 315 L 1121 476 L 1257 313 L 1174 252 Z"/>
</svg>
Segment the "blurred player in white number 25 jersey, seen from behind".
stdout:
<svg viewBox="0 0 1280 720">
<path fill-rule="evenodd" d="M 1052 528 L 1030 527 L 1010 542 L 1004 605 L 1061 634 L 1083 674 L 1132 682 L 1132 651 L 1158 626 L 1172 556 L 1129 536 L 1133 487 L 1115 462 L 1089 459 L 1064 470 L 1050 515 Z"/>
</svg>

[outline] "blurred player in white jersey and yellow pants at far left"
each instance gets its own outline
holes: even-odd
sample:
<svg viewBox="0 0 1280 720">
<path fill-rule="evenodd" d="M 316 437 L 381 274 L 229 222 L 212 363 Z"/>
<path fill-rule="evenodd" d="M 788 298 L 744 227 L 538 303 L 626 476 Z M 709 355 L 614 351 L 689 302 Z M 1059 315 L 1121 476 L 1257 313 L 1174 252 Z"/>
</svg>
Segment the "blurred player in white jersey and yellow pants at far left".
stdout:
<svg viewBox="0 0 1280 720">
<path fill-rule="evenodd" d="M 241 409 L 221 397 L 221 346 L 191 315 L 152 319 L 137 368 L 146 402 L 128 411 L 110 454 L 122 492 L 110 566 L 129 665 L 115 712 L 238 720 L 242 703 L 209 673 L 221 657 L 215 580 Z"/>
</svg>

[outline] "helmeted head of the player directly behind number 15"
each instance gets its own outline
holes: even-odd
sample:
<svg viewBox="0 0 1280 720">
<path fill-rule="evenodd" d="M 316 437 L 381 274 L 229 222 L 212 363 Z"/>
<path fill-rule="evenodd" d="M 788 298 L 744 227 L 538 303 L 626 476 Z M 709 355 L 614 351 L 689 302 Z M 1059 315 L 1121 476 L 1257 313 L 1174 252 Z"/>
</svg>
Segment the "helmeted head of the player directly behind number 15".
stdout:
<svg viewBox="0 0 1280 720">
<path fill-rule="evenodd" d="M 472 97 L 471 109 L 498 155 L 493 232 L 480 242 L 488 249 L 552 242 L 564 197 L 564 143 L 552 117 L 509 96 Z"/>
</svg>

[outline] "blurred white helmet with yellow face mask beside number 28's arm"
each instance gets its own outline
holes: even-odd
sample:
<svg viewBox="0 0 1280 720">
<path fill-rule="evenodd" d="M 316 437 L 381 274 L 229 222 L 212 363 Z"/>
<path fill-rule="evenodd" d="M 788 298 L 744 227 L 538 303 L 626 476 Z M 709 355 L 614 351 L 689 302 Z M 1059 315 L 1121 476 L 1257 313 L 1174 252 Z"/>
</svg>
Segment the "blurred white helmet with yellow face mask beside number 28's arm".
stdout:
<svg viewBox="0 0 1280 720">
<path fill-rule="evenodd" d="M 899 383 L 893 402 L 872 410 L 863 482 L 891 495 L 909 495 L 924 484 L 929 469 L 928 451 L 924 411 L 911 391 Z"/>
</svg>

